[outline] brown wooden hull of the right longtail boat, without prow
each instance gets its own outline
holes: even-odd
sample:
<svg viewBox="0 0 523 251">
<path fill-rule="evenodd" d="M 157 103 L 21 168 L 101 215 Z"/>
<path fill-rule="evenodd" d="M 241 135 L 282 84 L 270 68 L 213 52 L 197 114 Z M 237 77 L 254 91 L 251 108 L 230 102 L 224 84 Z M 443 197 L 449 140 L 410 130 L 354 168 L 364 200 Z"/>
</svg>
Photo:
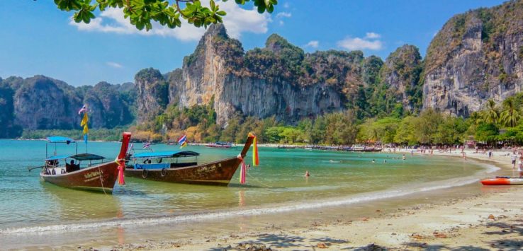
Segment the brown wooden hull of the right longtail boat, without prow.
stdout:
<svg viewBox="0 0 523 251">
<path fill-rule="evenodd" d="M 125 177 L 185 184 L 226 186 L 229 185 L 240 163 L 242 163 L 240 158 L 228 158 L 183 168 L 134 169 L 129 167 L 125 169 Z"/>
</svg>

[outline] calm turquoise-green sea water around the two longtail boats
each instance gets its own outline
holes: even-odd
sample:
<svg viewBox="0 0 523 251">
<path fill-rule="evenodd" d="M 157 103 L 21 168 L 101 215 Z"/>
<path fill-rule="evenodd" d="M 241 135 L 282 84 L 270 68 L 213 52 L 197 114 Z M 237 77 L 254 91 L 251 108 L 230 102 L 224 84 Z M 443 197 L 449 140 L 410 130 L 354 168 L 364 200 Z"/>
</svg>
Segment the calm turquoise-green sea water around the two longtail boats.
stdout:
<svg viewBox="0 0 523 251">
<path fill-rule="evenodd" d="M 79 152 L 85 151 L 79 143 Z M 141 146 L 141 144 L 138 144 Z M 89 142 L 89 152 L 115 158 L 119 143 Z M 178 146 L 153 145 L 154 151 Z M 236 156 L 236 149 L 188 146 L 201 153 L 198 162 Z M 59 147 L 59 154 L 74 147 Z M 247 163 L 251 163 L 249 151 Z M 81 226 L 136 218 L 189 216 L 213 212 L 300 209 L 332 202 L 380 199 L 415 189 L 437 189 L 471 182 L 485 167 L 459 158 L 407 156 L 391 153 L 348 153 L 303 149 L 259 148 L 260 165 L 251 168 L 247 185 L 238 182 L 239 171 L 229 187 L 178 185 L 126 178 L 113 195 L 56 187 L 39 178 L 45 141 L 0 140 L 0 233 L 38 231 L 49 226 Z M 372 163 L 372 160 L 376 163 Z M 387 160 L 387 163 L 384 163 Z M 310 177 L 303 177 L 305 171 Z M 388 195 L 383 195 L 388 194 Z M 315 202 L 316 204 L 313 204 Z M 318 204 L 319 203 L 319 204 Z"/>
</svg>

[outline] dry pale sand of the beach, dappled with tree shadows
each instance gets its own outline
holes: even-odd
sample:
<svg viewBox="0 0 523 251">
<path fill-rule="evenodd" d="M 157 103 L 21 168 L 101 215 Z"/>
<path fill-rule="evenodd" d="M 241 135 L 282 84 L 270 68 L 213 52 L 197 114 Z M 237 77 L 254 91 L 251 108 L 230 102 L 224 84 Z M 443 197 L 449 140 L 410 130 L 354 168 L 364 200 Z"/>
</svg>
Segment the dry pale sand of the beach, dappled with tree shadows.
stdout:
<svg viewBox="0 0 523 251">
<path fill-rule="evenodd" d="M 410 155 L 410 150 L 404 150 Z M 468 158 L 491 161 L 498 174 L 512 175 L 509 151 L 483 153 L 466 151 Z M 415 153 L 417 154 L 417 153 Z M 461 153 L 434 155 L 454 156 Z M 475 186 L 476 189 L 477 186 Z M 335 221 L 314 221 L 310 226 L 271 227 L 247 233 L 161 238 L 144 243 L 83 246 L 101 250 L 520 250 L 523 248 L 523 187 L 480 187 L 482 191 L 464 198 L 412 204 L 393 211 L 373 209 L 369 216 Z M 483 189 L 486 189 L 483 192 Z M 400 198 L 401 199 L 401 198 Z M 297 218 L 296 221 L 299 221 Z M 101 244 L 101 243 L 99 243 Z"/>
</svg>

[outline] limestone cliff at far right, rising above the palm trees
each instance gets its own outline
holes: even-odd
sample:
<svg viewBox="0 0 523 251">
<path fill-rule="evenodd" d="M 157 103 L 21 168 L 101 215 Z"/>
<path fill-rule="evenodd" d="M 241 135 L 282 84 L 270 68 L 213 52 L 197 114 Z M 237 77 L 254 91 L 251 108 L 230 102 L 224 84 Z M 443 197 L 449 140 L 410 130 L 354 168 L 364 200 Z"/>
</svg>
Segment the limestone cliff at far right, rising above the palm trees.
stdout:
<svg viewBox="0 0 523 251">
<path fill-rule="evenodd" d="M 523 1 L 451 18 L 427 49 L 423 107 L 467 116 L 522 91 Z"/>
</svg>

